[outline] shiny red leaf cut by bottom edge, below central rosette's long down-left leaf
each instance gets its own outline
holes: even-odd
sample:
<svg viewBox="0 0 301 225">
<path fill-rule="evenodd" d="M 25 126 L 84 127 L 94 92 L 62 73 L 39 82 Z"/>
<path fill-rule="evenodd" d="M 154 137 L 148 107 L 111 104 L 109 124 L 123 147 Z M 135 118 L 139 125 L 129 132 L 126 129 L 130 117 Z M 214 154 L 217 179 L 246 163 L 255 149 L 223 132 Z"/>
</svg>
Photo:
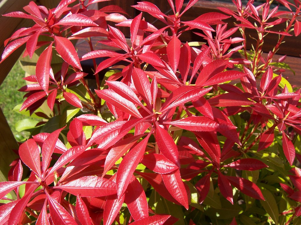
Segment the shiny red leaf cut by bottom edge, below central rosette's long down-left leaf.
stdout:
<svg viewBox="0 0 301 225">
<path fill-rule="evenodd" d="M 124 195 L 120 198 L 107 199 L 104 205 L 104 225 L 110 225 L 118 215 L 122 204 L 124 202 Z"/>
</svg>

